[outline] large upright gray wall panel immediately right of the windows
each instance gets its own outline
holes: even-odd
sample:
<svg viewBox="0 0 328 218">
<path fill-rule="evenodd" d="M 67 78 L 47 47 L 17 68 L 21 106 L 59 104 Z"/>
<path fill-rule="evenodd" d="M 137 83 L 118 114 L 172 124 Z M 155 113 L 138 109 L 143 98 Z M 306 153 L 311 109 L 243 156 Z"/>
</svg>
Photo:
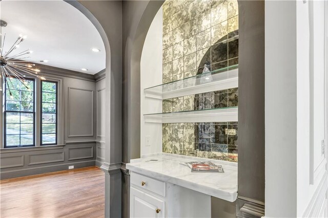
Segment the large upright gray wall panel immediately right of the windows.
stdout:
<svg viewBox="0 0 328 218">
<path fill-rule="evenodd" d="M 93 90 L 68 88 L 68 137 L 94 136 L 93 107 Z"/>
</svg>

